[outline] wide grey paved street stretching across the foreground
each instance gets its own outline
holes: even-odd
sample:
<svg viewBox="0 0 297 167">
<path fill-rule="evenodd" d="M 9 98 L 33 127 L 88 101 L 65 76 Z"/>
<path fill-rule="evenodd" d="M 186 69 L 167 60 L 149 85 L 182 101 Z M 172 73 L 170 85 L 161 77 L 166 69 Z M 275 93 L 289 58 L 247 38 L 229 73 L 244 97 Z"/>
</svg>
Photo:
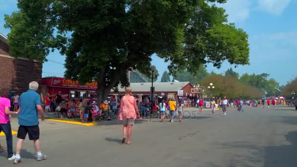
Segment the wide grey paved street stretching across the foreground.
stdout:
<svg viewBox="0 0 297 167">
<path fill-rule="evenodd" d="M 95 126 L 41 122 L 42 152 L 37 162 L 34 147 L 25 141 L 21 167 L 296 167 L 297 111 L 229 108 L 216 110 L 182 123 L 137 121 L 131 145 L 120 145 L 120 123 Z M 13 120 L 13 130 L 17 130 Z M 104 124 L 104 125 L 102 125 Z M 14 149 L 16 143 L 14 136 Z M 6 146 L 5 137 L 0 142 Z M 33 153 L 33 154 L 32 154 Z M 0 153 L 1 167 L 13 166 Z"/>
</svg>

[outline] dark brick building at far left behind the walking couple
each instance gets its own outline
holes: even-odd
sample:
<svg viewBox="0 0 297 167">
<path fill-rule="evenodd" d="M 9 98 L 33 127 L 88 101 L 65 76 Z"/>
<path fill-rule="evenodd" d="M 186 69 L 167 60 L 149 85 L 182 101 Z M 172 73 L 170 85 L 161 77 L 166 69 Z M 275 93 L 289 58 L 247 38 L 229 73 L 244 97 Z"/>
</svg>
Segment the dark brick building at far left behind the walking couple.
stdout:
<svg viewBox="0 0 297 167">
<path fill-rule="evenodd" d="M 42 63 L 9 56 L 7 38 L 0 33 L 0 95 L 28 90 L 32 81 L 41 83 Z"/>
</svg>

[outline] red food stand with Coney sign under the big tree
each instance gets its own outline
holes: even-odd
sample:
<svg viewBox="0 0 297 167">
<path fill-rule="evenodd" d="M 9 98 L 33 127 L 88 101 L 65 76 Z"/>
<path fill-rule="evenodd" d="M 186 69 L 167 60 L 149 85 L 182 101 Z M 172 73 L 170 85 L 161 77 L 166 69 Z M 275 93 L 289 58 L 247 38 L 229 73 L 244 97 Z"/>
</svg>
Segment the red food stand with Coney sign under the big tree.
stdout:
<svg viewBox="0 0 297 167">
<path fill-rule="evenodd" d="M 64 99 L 80 99 L 96 96 L 96 89 L 98 87 L 97 82 L 79 84 L 78 81 L 59 77 L 42 78 L 42 85 L 47 87 L 47 92 L 50 95 L 61 92 Z"/>
</svg>

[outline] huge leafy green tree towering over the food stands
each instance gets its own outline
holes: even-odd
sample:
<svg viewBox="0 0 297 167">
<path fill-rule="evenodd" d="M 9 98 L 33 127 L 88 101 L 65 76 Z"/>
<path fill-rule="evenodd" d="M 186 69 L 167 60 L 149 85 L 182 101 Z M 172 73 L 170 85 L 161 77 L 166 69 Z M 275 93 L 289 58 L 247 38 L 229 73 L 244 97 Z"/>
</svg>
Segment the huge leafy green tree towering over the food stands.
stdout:
<svg viewBox="0 0 297 167">
<path fill-rule="evenodd" d="M 127 70 L 150 74 L 151 56 L 170 73 L 249 63 L 248 35 L 228 23 L 217 3 L 226 0 L 18 0 L 5 16 L 15 57 L 45 61 L 52 49 L 66 55 L 65 77 L 98 82 L 98 101 L 128 85 Z"/>
</svg>

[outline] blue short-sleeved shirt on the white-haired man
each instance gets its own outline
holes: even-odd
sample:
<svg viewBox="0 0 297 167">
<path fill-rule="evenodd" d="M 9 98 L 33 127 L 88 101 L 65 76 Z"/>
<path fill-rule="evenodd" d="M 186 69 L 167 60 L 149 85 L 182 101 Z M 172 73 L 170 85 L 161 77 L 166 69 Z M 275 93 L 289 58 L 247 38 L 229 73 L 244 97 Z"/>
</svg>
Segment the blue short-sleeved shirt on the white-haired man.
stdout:
<svg viewBox="0 0 297 167">
<path fill-rule="evenodd" d="M 21 94 L 19 104 L 21 106 L 19 125 L 39 125 L 36 105 L 41 105 L 40 95 L 34 90 L 28 90 Z"/>
</svg>

